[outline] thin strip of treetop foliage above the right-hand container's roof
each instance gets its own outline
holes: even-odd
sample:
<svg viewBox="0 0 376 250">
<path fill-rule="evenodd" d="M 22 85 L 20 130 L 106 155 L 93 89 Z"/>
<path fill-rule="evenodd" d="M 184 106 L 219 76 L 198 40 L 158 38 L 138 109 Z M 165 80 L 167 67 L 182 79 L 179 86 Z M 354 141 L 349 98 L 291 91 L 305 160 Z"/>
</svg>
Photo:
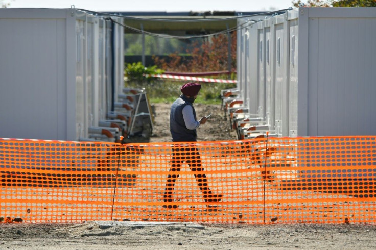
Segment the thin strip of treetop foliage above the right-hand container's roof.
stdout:
<svg viewBox="0 0 376 250">
<path fill-rule="evenodd" d="M 307 7 L 376 7 L 375 0 L 308 0 L 292 2 L 295 7 L 300 3 L 306 4 Z"/>
</svg>

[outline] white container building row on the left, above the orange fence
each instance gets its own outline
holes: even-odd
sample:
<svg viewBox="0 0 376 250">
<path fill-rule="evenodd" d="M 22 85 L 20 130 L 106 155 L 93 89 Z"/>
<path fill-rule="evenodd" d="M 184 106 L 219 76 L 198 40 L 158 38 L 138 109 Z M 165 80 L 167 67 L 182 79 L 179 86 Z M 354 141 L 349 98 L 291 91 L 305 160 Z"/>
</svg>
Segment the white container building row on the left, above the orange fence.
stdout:
<svg viewBox="0 0 376 250">
<path fill-rule="evenodd" d="M 74 8 L 0 9 L 0 137 L 87 138 L 124 87 L 123 42 Z"/>
</svg>

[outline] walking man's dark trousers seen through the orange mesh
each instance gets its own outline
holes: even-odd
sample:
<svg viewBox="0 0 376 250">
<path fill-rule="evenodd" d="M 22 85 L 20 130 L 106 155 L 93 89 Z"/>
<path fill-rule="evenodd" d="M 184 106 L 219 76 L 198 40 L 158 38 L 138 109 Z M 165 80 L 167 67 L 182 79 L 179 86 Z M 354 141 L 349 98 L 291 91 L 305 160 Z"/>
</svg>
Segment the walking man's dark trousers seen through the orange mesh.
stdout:
<svg viewBox="0 0 376 250">
<path fill-rule="evenodd" d="M 200 153 L 196 147 L 173 147 L 172 148 L 172 166 L 170 168 L 170 174 L 167 177 L 167 183 L 165 188 L 165 195 L 163 199 L 165 202 L 172 202 L 172 192 L 174 190 L 175 182 L 179 178 L 179 172 L 181 170 L 181 164 L 186 162 L 192 172 L 194 172 L 197 185 L 201 192 L 209 194 L 207 178 L 204 169 L 201 167 Z"/>
</svg>

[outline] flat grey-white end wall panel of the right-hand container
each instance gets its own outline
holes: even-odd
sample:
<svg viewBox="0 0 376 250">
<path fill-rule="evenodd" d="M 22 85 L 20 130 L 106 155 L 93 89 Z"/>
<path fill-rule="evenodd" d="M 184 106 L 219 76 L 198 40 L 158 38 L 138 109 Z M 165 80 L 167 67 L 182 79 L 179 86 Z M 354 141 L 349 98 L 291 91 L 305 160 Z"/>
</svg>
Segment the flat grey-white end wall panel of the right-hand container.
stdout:
<svg viewBox="0 0 376 250">
<path fill-rule="evenodd" d="M 376 18 L 310 19 L 310 135 L 376 133 L 375 27 Z"/>
</svg>

